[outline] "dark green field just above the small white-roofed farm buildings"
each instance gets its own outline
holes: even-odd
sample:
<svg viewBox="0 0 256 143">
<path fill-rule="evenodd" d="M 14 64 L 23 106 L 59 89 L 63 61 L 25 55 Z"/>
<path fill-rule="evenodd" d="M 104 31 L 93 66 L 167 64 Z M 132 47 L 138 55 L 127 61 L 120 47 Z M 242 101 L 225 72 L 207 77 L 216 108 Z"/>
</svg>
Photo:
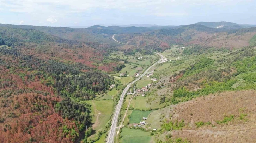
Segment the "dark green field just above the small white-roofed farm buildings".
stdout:
<svg viewBox="0 0 256 143">
<path fill-rule="evenodd" d="M 142 121 L 142 117 L 148 117 L 148 115 L 152 111 L 139 111 L 139 110 L 133 110 L 130 118 L 130 123 L 140 123 Z"/>
</svg>

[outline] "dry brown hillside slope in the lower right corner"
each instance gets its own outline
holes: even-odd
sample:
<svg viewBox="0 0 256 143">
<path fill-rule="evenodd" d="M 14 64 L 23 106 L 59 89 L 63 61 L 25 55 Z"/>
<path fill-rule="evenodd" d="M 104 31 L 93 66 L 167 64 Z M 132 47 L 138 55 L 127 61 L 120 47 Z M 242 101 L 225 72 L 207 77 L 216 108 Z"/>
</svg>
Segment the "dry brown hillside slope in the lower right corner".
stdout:
<svg viewBox="0 0 256 143">
<path fill-rule="evenodd" d="M 186 124 L 182 130 L 171 131 L 173 138 L 187 138 L 193 143 L 252 143 L 256 141 L 255 90 L 198 97 L 171 107 L 167 107 L 167 111 L 161 109 L 165 112 L 164 118 L 179 121 L 183 119 Z M 247 114 L 244 120 L 240 119 L 241 113 Z M 216 123 L 217 120 L 223 120 L 225 115 L 231 114 L 234 115 L 233 120 L 222 124 Z M 211 125 L 197 128 L 195 123 L 199 121 L 210 121 Z"/>
</svg>

